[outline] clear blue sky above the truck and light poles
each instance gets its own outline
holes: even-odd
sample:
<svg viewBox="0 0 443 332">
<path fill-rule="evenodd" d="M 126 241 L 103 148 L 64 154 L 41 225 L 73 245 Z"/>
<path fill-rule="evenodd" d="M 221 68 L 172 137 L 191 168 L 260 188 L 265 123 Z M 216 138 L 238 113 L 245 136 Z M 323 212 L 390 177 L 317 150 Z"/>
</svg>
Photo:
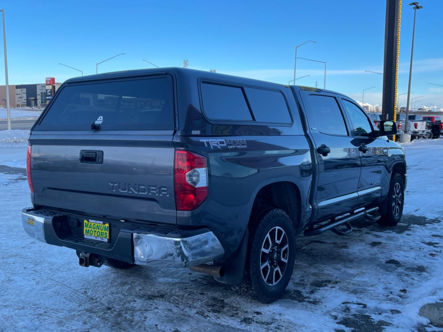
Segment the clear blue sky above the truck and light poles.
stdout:
<svg viewBox="0 0 443 332">
<path fill-rule="evenodd" d="M 403 1 L 398 93 L 407 92 L 413 10 Z M 417 12 L 412 97 L 443 105 L 443 1 Z M 95 73 L 157 66 L 288 84 L 298 56 L 327 62 L 326 89 L 381 104 L 385 0 L 342 1 L 5 1 L 10 84 L 62 82 L 78 76 L 59 62 Z M 3 62 L 0 60 L 0 62 Z M 298 60 L 299 85 L 323 87 L 323 64 Z M 0 84 L 4 72 L 0 70 Z M 441 88 L 441 89 L 440 89 Z M 405 106 L 406 95 L 399 103 Z M 418 100 L 420 100 L 419 98 Z"/>
</svg>

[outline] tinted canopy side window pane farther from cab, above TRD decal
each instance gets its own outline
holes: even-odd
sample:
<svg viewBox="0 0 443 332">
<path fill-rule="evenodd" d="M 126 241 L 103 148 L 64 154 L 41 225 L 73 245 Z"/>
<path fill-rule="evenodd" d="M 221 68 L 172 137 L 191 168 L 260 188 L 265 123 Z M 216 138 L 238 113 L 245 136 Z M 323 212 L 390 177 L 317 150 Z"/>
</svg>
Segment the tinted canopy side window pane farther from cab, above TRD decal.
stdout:
<svg viewBox="0 0 443 332">
<path fill-rule="evenodd" d="M 202 83 L 205 115 L 211 120 L 253 120 L 243 90 L 234 86 Z"/>
</svg>

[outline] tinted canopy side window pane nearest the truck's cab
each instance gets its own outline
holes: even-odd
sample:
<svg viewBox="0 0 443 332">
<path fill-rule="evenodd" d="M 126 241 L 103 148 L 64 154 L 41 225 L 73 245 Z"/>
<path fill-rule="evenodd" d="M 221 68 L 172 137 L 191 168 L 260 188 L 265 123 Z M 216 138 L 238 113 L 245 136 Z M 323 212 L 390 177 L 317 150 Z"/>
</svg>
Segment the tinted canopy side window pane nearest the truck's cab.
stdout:
<svg viewBox="0 0 443 332">
<path fill-rule="evenodd" d="M 257 122 L 291 123 L 291 116 L 283 93 L 255 88 L 244 89 Z"/>
</svg>

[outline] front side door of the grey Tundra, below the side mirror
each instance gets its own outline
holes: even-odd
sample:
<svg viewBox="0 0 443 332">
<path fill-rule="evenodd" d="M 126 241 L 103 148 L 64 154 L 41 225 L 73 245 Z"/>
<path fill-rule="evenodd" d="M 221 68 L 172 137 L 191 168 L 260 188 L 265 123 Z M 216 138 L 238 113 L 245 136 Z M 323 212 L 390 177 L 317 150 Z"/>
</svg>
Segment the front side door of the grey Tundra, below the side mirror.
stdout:
<svg viewBox="0 0 443 332">
<path fill-rule="evenodd" d="M 389 188 L 388 149 L 386 136 L 373 138 L 377 130 L 367 114 L 354 101 L 341 98 L 349 119 L 354 145 L 361 156 L 357 207 L 364 207 L 380 198 L 383 188 Z"/>
</svg>

